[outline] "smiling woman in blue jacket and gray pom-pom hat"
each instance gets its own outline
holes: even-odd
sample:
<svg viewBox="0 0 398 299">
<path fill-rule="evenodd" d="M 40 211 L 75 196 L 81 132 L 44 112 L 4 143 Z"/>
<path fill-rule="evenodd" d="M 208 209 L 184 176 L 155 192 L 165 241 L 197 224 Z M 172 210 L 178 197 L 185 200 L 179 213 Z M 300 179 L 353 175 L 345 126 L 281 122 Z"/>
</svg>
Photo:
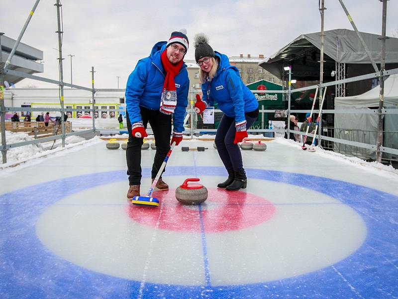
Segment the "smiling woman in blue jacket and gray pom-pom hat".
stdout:
<svg viewBox="0 0 398 299">
<path fill-rule="evenodd" d="M 203 92 L 202 99 L 197 97 L 195 111 L 201 113 L 215 101 L 224 112 L 214 142 L 228 179 L 217 187 L 230 191 L 246 188 L 246 173 L 237 143 L 247 137 L 247 128 L 256 121 L 258 102 L 240 79 L 238 69 L 229 64 L 226 55 L 214 51 L 202 33 L 195 36 L 195 60 L 200 67 Z"/>
</svg>

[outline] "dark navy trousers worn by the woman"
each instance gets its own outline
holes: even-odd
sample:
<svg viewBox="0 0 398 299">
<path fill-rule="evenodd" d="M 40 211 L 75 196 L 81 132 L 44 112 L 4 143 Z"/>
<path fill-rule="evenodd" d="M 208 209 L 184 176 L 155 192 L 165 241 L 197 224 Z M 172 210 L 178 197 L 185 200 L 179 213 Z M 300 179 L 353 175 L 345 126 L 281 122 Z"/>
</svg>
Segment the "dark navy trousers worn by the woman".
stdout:
<svg viewBox="0 0 398 299">
<path fill-rule="evenodd" d="M 258 109 L 253 112 L 245 113 L 245 119 L 247 122 L 246 128 L 250 128 L 250 126 L 256 121 L 257 116 Z M 227 171 L 243 171 L 242 154 L 238 144 L 233 143 L 235 132 L 235 118 L 228 117 L 224 114 L 218 125 L 214 143 L 217 146 L 218 155 Z"/>
</svg>

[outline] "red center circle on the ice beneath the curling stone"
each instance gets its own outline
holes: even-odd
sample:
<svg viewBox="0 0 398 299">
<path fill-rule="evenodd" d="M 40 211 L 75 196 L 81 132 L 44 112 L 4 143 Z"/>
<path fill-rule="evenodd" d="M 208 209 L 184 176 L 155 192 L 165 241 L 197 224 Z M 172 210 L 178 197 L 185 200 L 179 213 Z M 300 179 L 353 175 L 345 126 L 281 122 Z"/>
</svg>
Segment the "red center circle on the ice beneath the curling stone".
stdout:
<svg viewBox="0 0 398 299">
<path fill-rule="evenodd" d="M 145 225 L 160 229 L 200 232 L 221 232 L 251 227 L 269 220 L 276 211 L 268 200 L 251 193 L 208 188 L 208 197 L 200 208 L 177 201 L 175 189 L 156 191 L 158 207 L 129 205 L 128 216 Z M 160 214 L 161 213 L 161 214 Z"/>
</svg>

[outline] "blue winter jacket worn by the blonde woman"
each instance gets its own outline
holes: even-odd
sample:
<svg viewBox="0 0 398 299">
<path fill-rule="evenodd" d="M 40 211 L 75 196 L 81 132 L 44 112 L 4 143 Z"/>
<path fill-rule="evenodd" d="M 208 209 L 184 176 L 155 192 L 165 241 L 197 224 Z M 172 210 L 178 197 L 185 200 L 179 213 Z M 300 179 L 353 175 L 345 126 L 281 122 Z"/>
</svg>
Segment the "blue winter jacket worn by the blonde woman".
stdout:
<svg viewBox="0 0 398 299">
<path fill-rule="evenodd" d="M 216 101 L 226 116 L 235 118 L 235 122 L 244 121 L 245 112 L 256 110 L 258 101 L 240 79 L 238 69 L 229 64 L 228 57 L 214 52 L 220 61 L 211 82 L 207 81 L 201 86 L 203 100 L 209 106 L 213 106 Z"/>
</svg>

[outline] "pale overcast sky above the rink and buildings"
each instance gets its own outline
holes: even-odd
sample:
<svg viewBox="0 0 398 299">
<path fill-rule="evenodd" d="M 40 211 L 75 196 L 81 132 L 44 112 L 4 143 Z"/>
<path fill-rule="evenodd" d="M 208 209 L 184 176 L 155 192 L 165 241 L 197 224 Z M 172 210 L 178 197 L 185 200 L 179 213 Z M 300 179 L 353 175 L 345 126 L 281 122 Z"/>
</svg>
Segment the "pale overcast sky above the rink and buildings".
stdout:
<svg viewBox="0 0 398 299">
<path fill-rule="evenodd" d="M 41 77 L 58 80 L 58 36 L 55 0 L 41 0 L 22 42 L 44 52 Z M 3 1 L 0 31 L 17 39 L 35 0 Z M 91 88 L 95 67 L 96 88 L 124 88 L 140 58 L 152 46 L 168 40 L 172 31 L 185 27 L 190 40 L 186 59 L 194 59 L 194 35 L 204 32 L 214 50 L 230 56 L 265 57 L 277 52 L 300 34 L 320 31 L 318 0 L 63 0 L 64 81 Z M 357 28 L 381 34 L 382 2 L 344 0 Z M 338 0 L 325 0 L 325 30 L 352 29 Z M 387 35 L 398 35 L 398 0 L 388 1 Z M 53 49 L 55 48 L 55 49 Z M 16 87 L 57 87 L 22 80 Z"/>
</svg>

